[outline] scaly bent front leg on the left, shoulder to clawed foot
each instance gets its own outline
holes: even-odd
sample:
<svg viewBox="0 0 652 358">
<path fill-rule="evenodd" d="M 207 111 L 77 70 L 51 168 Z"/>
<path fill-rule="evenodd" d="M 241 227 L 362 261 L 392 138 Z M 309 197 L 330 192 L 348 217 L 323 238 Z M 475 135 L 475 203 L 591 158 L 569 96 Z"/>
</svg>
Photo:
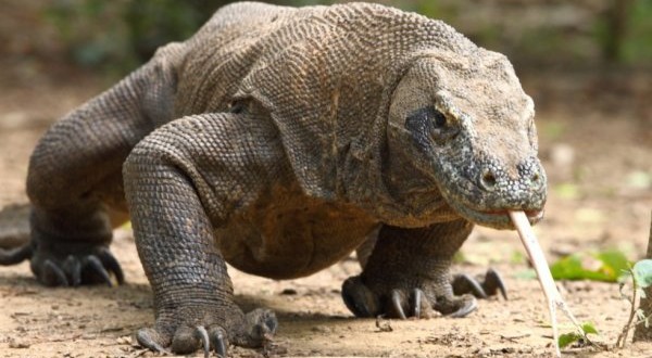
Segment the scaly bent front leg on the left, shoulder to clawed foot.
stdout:
<svg viewBox="0 0 652 358">
<path fill-rule="evenodd" d="M 213 229 L 278 177 L 284 156 L 264 116 L 177 119 L 142 140 L 124 165 L 138 254 L 154 294 L 155 324 L 137 333 L 154 350 L 225 355 L 261 346 L 276 330 L 268 310 L 244 315 Z M 225 238 L 224 240 L 228 240 Z"/>
</svg>

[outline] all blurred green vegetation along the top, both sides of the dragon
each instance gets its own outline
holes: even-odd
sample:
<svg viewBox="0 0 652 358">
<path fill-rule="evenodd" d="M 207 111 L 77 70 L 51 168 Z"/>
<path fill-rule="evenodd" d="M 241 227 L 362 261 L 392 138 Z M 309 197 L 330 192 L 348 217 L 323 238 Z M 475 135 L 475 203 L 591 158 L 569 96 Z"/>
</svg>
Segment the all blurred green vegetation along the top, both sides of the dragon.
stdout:
<svg viewBox="0 0 652 358">
<path fill-rule="evenodd" d="M 122 75 L 191 36 L 223 0 L 52 0 L 46 23 L 75 63 Z M 278 0 L 301 5 L 335 1 Z M 441 18 L 522 67 L 652 63 L 652 0 L 383 1 Z"/>
</svg>

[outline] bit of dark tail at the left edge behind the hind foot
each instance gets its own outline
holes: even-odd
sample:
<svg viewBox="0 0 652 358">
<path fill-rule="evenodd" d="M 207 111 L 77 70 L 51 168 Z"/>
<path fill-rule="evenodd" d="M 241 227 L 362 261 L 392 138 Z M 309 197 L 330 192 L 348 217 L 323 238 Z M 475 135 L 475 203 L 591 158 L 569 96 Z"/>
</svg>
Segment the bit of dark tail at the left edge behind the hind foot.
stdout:
<svg viewBox="0 0 652 358">
<path fill-rule="evenodd" d="M 32 257 L 29 204 L 8 205 L 0 210 L 0 265 L 15 265 Z"/>
</svg>

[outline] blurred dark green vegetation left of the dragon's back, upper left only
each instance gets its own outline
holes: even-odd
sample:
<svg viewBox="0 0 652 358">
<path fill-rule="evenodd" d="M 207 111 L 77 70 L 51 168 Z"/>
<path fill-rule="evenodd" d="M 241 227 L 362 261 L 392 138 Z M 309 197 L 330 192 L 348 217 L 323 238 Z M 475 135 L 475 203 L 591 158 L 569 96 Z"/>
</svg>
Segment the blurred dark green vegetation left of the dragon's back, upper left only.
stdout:
<svg viewBox="0 0 652 358">
<path fill-rule="evenodd" d="M 54 25 L 70 57 L 89 67 L 125 72 L 158 47 L 184 40 L 228 1 L 54 0 L 43 15 Z"/>
</svg>

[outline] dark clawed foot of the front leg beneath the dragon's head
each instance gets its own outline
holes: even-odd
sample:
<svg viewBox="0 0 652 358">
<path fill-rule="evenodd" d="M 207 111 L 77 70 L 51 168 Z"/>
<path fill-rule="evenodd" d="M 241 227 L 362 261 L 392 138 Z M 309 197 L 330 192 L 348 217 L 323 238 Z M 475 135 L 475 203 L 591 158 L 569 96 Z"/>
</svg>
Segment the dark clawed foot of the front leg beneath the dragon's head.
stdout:
<svg viewBox="0 0 652 358">
<path fill-rule="evenodd" d="M 466 274 L 457 274 L 452 282 L 416 284 L 405 287 L 397 284 L 366 284 L 362 277 L 349 278 L 342 284 L 342 298 L 358 317 L 387 317 L 405 319 L 428 318 L 435 311 L 450 317 L 465 317 L 477 308 L 478 298 L 487 298 L 498 291 L 505 296 L 503 281 L 494 270 L 487 272 L 478 283 Z"/>
</svg>

